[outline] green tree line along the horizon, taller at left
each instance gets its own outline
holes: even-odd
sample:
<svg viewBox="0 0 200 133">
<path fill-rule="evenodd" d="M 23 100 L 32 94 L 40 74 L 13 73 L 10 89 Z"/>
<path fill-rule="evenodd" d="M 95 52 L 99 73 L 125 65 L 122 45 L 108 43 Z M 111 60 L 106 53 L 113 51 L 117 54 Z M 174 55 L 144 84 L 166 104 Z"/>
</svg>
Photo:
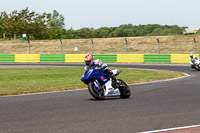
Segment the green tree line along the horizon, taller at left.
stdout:
<svg viewBox="0 0 200 133">
<path fill-rule="evenodd" d="M 0 38 L 20 38 L 27 34 L 30 39 L 79 39 L 79 38 L 111 38 L 136 36 L 165 36 L 180 35 L 187 27 L 177 25 L 132 25 L 125 24 L 119 27 L 73 28 L 66 30 L 64 16 L 58 11 L 53 13 L 36 13 L 28 8 L 11 13 L 0 14 Z"/>
</svg>

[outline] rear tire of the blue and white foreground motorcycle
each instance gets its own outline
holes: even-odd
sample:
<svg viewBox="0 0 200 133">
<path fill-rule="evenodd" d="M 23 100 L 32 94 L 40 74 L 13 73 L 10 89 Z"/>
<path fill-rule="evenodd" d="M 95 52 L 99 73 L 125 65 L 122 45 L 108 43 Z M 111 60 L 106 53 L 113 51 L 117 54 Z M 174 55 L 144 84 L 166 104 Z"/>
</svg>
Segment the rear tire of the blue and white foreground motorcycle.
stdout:
<svg viewBox="0 0 200 133">
<path fill-rule="evenodd" d="M 120 97 L 121 98 L 129 98 L 131 95 L 131 90 L 128 87 L 128 85 L 120 79 L 117 79 L 119 81 L 119 91 L 121 93 Z"/>
</svg>

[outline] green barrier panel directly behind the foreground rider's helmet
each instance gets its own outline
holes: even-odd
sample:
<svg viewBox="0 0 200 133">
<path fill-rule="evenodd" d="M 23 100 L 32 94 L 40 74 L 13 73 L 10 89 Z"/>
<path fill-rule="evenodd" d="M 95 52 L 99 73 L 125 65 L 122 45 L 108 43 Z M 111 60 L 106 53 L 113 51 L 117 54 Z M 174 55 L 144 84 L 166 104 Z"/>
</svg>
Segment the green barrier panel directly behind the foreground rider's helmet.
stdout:
<svg viewBox="0 0 200 133">
<path fill-rule="evenodd" d="M 104 63 L 116 63 L 117 55 L 116 54 L 93 54 L 94 59 L 99 59 Z"/>
</svg>

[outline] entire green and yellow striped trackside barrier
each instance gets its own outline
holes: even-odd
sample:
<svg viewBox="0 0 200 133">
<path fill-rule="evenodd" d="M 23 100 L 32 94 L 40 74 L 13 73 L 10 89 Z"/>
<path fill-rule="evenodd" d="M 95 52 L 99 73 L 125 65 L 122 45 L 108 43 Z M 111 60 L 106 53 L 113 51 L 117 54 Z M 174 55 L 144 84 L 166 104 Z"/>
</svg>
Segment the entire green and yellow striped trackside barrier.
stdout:
<svg viewBox="0 0 200 133">
<path fill-rule="evenodd" d="M 0 54 L 0 62 L 82 63 L 86 54 Z M 189 63 L 189 54 L 93 54 L 105 63 Z M 195 54 L 199 57 L 199 54 Z"/>
</svg>

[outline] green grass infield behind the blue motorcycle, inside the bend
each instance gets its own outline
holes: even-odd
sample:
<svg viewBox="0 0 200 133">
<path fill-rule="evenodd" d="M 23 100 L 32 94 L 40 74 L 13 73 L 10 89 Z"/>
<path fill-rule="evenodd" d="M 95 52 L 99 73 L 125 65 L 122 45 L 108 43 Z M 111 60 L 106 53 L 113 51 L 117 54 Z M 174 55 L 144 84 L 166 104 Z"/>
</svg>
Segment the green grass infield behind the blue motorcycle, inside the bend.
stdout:
<svg viewBox="0 0 200 133">
<path fill-rule="evenodd" d="M 83 67 L 1 68 L 0 95 L 87 88 L 80 81 L 83 69 Z M 120 69 L 122 73 L 118 78 L 127 83 L 140 83 L 184 76 L 182 73 L 170 71 Z"/>
</svg>

